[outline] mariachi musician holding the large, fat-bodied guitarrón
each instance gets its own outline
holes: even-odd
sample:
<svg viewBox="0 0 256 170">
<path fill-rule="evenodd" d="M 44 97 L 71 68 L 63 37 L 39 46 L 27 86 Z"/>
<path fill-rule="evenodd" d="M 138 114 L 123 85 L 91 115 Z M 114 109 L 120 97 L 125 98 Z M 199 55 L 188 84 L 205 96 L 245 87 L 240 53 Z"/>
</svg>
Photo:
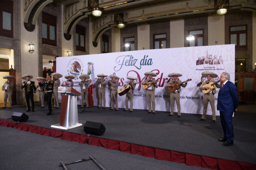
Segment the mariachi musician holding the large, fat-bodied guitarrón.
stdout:
<svg viewBox="0 0 256 170">
<path fill-rule="evenodd" d="M 123 111 L 128 111 L 128 101 L 130 100 L 130 112 L 132 112 L 132 99 L 133 99 L 133 91 L 135 90 L 135 86 L 136 84 L 134 84 L 134 80 L 138 80 L 138 78 L 135 78 L 133 76 L 127 76 L 126 77 L 128 80 L 130 80 L 130 82 L 127 82 L 127 85 L 131 86 L 131 89 L 129 90 L 129 92 L 126 93 L 126 97 L 125 97 L 125 110 Z M 124 84 L 124 87 L 126 86 L 126 84 Z"/>
</svg>

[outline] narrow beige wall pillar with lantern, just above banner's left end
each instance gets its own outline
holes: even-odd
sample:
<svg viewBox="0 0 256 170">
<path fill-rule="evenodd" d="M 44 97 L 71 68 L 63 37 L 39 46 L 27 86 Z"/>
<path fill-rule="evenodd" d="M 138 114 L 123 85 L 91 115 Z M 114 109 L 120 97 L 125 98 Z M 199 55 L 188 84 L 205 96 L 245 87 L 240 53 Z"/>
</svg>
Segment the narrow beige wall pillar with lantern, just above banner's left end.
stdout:
<svg viewBox="0 0 256 170">
<path fill-rule="evenodd" d="M 69 41 L 67 41 L 65 38 L 64 38 L 64 34 L 63 34 L 63 25 L 64 25 L 64 23 L 63 23 L 63 5 L 61 5 L 61 8 L 62 8 L 62 12 L 61 12 L 61 16 L 62 16 L 62 18 L 61 18 L 61 46 L 62 46 L 62 56 L 64 57 L 64 56 L 68 56 L 68 53 L 67 53 L 67 51 L 68 50 L 71 50 L 72 51 L 72 55 L 74 55 L 74 48 L 73 48 L 73 36 L 76 36 L 76 35 L 72 35 L 72 37 L 71 37 L 71 39 L 69 40 Z"/>
</svg>

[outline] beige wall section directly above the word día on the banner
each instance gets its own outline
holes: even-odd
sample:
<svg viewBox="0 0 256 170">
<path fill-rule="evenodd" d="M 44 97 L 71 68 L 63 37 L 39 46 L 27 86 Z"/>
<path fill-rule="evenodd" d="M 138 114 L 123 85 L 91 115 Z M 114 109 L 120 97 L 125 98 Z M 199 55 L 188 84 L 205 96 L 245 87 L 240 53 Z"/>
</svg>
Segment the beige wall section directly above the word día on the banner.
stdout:
<svg viewBox="0 0 256 170">
<path fill-rule="evenodd" d="M 144 49 L 150 49 L 149 24 L 139 25 L 137 30 L 138 30 L 138 50 L 142 50 L 143 47 Z"/>
</svg>

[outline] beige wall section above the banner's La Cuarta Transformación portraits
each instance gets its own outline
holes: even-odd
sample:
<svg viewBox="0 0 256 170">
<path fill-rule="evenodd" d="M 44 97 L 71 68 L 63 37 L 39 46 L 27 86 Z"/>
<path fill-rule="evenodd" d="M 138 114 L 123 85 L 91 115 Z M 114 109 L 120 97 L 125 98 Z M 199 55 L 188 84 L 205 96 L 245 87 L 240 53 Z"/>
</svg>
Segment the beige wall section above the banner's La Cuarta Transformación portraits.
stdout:
<svg viewBox="0 0 256 170">
<path fill-rule="evenodd" d="M 225 16 L 211 15 L 208 17 L 208 45 L 222 44 L 225 44 Z"/>
</svg>

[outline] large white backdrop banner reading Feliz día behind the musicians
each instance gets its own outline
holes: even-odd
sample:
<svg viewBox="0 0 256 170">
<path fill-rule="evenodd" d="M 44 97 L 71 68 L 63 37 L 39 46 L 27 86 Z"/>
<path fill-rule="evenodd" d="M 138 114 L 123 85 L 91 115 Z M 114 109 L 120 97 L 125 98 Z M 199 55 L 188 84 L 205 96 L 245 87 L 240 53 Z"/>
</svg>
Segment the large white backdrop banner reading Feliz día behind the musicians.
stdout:
<svg viewBox="0 0 256 170">
<path fill-rule="evenodd" d="M 205 58 L 203 62 L 201 59 Z M 215 59 L 216 58 L 216 59 Z M 208 62 L 206 62 L 206 60 Z M 152 71 L 157 74 L 153 77 L 159 80 L 158 88 L 155 90 L 155 103 L 157 111 L 170 111 L 170 92 L 165 87 L 167 81 L 172 78 L 168 77 L 169 73 L 178 72 L 183 76 L 179 77 L 181 81 L 192 79 L 188 85 L 181 87 L 180 104 L 182 113 L 202 114 L 203 112 L 203 97 L 204 93 L 199 90 L 197 85 L 200 85 L 201 73 L 203 71 L 213 71 L 218 74 L 219 80 L 222 72 L 230 73 L 230 81 L 235 80 L 235 45 L 212 45 L 198 47 L 182 47 L 182 48 L 167 48 L 167 49 L 149 49 L 138 51 L 125 51 L 103 54 L 91 54 L 69 57 L 58 57 L 56 71 L 62 75 L 70 74 L 75 76 L 74 88 L 81 91 L 79 87 L 80 74 L 87 74 L 88 62 L 92 63 L 92 83 L 93 83 L 93 100 L 94 106 L 98 106 L 99 97 L 98 89 L 96 89 L 97 74 L 104 73 L 108 75 L 107 80 L 110 80 L 109 75 L 114 74 L 120 77 L 119 88 L 123 87 L 127 76 L 137 77 L 139 84 L 136 85 L 133 98 L 133 109 L 147 110 L 146 91 L 142 88 L 141 82 L 147 79 L 144 75 L 147 71 Z M 60 78 L 61 82 L 66 81 L 64 76 Z M 118 89 L 119 89 L 118 88 Z M 218 91 L 215 94 L 215 107 L 217 111 Z M 118 107 L 125 108 L 125 95 L 117 97 Z M 59 101 L 61 95 L 59 94 Z M 78 97 L 78 104 L 81 104 L 81 96 Z M 111 107 L 110 89 L 106 87 L 106 107 Z M 129 102 L 128 102 L 129 105 Z M 129 105 L 130 107 L 130 105 Z M 175 103 L 174 112 L 177 112 Z M 208 105 L 207 115 L 211 115 L 211 107 Z"/>
</svg>

